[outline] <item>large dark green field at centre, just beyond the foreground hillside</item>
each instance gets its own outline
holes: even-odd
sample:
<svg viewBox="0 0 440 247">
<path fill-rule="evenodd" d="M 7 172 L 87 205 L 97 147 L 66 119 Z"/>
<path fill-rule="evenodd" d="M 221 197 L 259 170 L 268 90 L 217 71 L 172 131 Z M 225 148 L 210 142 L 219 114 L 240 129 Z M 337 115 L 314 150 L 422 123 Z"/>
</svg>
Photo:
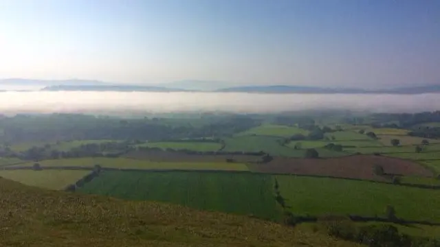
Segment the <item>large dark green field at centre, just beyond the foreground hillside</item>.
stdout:
<svg viewBox="0 0 440 247">
<path fill-rule="evenodd" d="M 154 200 L 195 209 L 276 220 L 272 177 L 206 172 L 102 172 L 80 189 L 129 200 Z"/>
</svg>

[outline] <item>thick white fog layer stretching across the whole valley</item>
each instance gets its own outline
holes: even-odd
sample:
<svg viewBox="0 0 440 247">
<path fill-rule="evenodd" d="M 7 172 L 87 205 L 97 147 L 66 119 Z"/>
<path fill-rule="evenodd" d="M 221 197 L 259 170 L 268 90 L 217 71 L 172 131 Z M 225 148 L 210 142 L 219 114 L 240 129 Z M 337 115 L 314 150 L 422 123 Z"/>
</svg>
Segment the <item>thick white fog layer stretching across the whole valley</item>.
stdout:
<svg viewBox="0 0 440 247">
<path fill-rule="evenodd" d="M 440 109 L 440 94 L 253 94 L 145 92 L 0 92 L 0 112 L 78 113 L 94 111 L 232 111 L 269 113 L 292 110 L 419 112 Z"/>
</svg>

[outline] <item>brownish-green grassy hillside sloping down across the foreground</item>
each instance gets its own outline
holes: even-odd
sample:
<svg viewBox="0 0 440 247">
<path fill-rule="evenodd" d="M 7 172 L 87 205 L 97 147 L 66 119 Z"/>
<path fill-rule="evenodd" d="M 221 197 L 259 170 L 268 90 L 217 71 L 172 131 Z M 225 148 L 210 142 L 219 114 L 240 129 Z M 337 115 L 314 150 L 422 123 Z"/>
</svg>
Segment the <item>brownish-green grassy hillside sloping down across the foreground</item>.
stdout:
<svg viewBox="0 0 440 247">
<path fill-rule="evenodd" d="M 5 178 L 0 194 L 0 246 L 358 246 L 245 216 L 47 191 Z"/>
</svg>

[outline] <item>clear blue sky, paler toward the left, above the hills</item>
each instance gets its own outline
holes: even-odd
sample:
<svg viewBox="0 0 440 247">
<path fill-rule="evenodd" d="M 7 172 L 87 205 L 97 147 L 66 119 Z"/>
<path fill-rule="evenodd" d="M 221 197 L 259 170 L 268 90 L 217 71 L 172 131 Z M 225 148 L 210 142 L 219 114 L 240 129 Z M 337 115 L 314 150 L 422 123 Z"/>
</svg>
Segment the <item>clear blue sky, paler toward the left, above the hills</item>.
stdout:
<svg viewBox="0 0 440 247">
<path fill-rule="evenodd" d="M 0 0 L 0 78 L 440 84 L 440 1 Z"/>
</svg>

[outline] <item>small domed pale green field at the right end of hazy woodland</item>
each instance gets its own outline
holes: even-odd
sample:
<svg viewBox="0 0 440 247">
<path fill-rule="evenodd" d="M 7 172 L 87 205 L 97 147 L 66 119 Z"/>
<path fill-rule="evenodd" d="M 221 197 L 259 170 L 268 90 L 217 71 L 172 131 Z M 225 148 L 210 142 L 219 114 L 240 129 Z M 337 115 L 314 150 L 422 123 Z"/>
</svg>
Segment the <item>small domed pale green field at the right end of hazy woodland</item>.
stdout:
<svg viewBox="0 0 440 247">
<path fill-rule="evenodd" d="M 250 130 L 246 130 L 236 135 L 237 136 L 263 135 L 263 136 L 272 136 L 272 137 L 291 137 L 294 134 L 307 135 L 309 134 L 309 131 L 303 130 L 302 128 L 298 128 L 295 126 L 263 124 L 262 126 L 251 128 Z"/>
</svg>

